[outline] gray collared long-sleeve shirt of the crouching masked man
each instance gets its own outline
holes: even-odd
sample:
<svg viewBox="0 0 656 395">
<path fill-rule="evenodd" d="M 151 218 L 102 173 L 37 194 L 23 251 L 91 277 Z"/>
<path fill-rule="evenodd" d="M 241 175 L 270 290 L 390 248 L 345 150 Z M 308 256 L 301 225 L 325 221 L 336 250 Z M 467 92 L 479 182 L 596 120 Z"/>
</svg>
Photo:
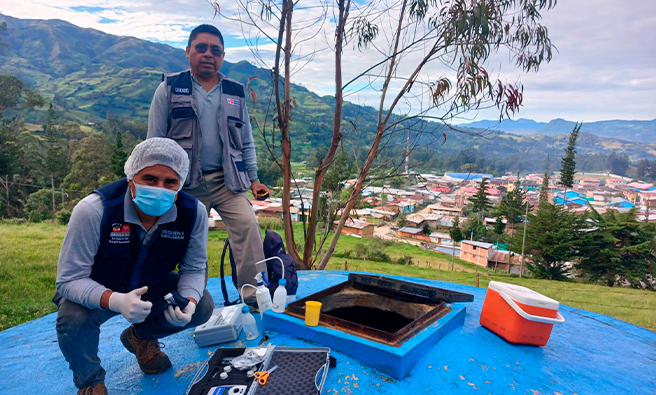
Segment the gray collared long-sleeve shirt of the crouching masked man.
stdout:
<svg viewBox="0 0 656 395">
<path fill-rule="evenodd" d="M 57 263 L 56 284 L 59 294 L 92 309 L 100 308 L 100 297 L 108 290 L 90 278 L 93 261 L 100 246 L 100 225 L 104 206 L 101 197 L 96 193 L 80 200 L 75 206 Z M 146 231 L 134 208 L 129 190 L 125 194 L 124 207 L 125 222 L 137 225 L 134 228 L 139 232 L 139 238 L 144 245 L 153 238 L 158 226 L 173 222 L 178 216 L 178 208 L 173 205 Z M 179 265 L 178 292 L 185 298 L 200 300 L 203 295 L 207 270 L 207 232 L 207 211 L 205 205 L 198 201 L 196 224 L 191 233 L 187 255 Z"/>
</svg>

